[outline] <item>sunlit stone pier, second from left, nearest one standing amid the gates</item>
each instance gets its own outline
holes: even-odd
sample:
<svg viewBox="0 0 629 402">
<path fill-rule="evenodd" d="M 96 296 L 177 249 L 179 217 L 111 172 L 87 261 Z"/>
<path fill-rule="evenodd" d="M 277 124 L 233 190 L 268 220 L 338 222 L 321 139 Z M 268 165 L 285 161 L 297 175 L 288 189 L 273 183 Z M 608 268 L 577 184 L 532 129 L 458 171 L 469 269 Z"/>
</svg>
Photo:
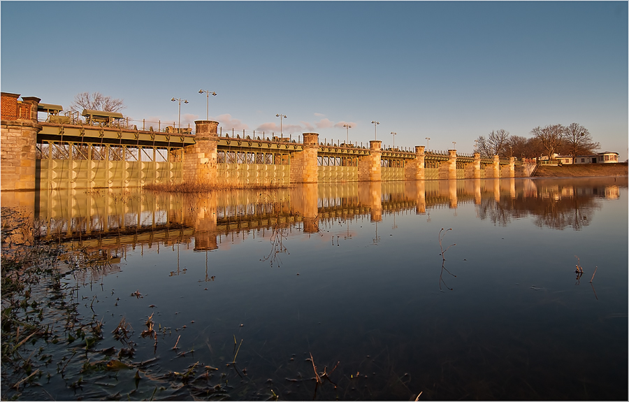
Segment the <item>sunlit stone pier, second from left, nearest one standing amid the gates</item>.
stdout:
<svg viewBox="0 0 629 402">
<path fill-rule="evenodd" d="M 195 185 L 216 184 L 219 122 L 196 120 L 194 124 L 196 124 L 194 145 L 188 145 L 184 149 L 183 181 Z"/>
</svg>

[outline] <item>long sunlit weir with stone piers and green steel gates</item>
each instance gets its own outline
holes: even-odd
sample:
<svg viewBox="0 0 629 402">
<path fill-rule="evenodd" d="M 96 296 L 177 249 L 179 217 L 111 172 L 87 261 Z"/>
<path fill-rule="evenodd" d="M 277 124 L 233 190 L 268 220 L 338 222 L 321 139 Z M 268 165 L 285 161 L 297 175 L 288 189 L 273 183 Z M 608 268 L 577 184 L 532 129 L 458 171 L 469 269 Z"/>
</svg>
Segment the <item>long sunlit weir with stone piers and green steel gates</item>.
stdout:
<svg viewBox="0 0 629 402">
<path fill-rule="evenodd" d="M 456 150 L 414 152 L 319 142 L 319 134 L 289 138 L 223 134 L 212 120 L 189 129 L 154 131 L 129 125 L 119 113 L 84 110 L 2 92 L 1 190 L 142 187 L 147 183 L 273 184 L 456 180 L 528 177 L 515 158 L 482 159 Z M 45 113 L 39 119 L 39 113 Z"/>
</svg>

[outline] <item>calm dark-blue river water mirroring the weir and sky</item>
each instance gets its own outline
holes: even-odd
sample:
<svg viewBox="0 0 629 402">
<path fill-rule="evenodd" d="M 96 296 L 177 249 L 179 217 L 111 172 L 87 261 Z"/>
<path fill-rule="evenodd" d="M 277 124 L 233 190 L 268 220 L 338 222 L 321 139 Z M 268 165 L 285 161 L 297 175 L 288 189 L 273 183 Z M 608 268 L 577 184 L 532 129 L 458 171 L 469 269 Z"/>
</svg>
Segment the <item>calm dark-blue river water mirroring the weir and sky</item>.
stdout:
<svg viewBox="0 0 629 402">
<path fill-rule="evenodd" d="M 116 258 L 78 278 L 104 338 L 23 399 L 628 398 L 627 178 L 116 194 L 41 195 L 44 237 Z M 157 359 L 80 373 L 122 317 Z"/>
</svg>

